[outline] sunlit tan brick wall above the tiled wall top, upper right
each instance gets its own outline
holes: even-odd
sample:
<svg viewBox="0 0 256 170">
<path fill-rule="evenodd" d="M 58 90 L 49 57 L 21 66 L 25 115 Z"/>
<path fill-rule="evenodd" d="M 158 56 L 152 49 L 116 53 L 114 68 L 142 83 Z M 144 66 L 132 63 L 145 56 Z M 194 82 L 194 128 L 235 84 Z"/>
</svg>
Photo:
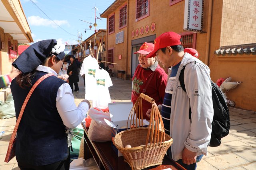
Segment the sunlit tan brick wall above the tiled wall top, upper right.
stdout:
<svg viewBox="0 0 256 170">
<path fill-rule="evenodd" d="M 220 46 L 256 43 L 256 0 L 223 0 Z"/>
</svg>

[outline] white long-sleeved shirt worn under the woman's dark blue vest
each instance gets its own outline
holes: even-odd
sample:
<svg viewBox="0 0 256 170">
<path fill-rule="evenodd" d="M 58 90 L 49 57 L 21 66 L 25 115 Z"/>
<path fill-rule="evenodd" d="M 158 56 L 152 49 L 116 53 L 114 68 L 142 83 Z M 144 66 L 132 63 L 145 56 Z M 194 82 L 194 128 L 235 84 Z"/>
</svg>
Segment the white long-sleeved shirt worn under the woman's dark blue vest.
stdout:
<svg viewBox="0 0 256 170">
<path fill-rule="evenodd" d="M 53 73 L 55 76 L 58 74 L 50 67 L 38 66 L 38 71 Z M 58 89 L 56 96 L 56 108 L 63 124 L 69 128 L 77 127 L 86 116 L 89 106 L 86 102 L 81 102 L 78 107 L 74 102 L 74 96 L 68 83 L 63 83 Z"/>
</svg>

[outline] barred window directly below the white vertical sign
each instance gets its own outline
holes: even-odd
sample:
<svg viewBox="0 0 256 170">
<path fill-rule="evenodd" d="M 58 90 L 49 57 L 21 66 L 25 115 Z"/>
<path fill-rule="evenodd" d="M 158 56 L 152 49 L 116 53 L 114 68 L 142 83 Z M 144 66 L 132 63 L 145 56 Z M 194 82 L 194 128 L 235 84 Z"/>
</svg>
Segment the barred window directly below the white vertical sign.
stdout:
<svg viewBox="0 0 256 170">
<path fill-rule="evenodd" d="M 181 45 L 185 48 L 196 48 L 196 33 L 184 32 L 181 33 L 182 42 Z"/>
</svg>

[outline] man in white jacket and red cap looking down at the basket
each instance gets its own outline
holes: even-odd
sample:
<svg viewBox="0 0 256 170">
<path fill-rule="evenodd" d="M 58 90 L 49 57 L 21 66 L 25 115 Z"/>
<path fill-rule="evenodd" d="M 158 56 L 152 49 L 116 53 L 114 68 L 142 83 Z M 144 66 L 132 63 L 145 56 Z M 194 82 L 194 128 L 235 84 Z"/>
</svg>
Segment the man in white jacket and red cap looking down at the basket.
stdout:
<svg viewBox="0 0 256 170">
<path fill-rule="evenodd" d="M 168 70 L 161 115 L 164 129 L 173 139 L 168 153 L 186 169 L 196 169 L 196 156 L 207 155 L 212 132 L 213 106 L 210 69 L 189 53 L 184 53 L 181 36 L 166 32 L 155 39 L 154 51 Z M 179 75 L 184 70 L 186 92 Z M 191 118 L 189 109 L 191 108 Z"/>
</svg>

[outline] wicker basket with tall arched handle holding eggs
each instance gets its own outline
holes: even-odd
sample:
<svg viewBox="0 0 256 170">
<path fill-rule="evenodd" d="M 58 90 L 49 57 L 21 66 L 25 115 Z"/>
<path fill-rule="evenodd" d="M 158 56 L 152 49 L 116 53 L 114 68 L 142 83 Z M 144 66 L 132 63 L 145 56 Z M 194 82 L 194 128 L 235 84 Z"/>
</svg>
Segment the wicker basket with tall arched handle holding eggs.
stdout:
<svg viewBox="0 0 256 170">
<path fill-rule="evenodd" d="M 140 119 L 142 117 L 142 98 L 152 104 L 148 127 L 143 127 L 143 121 Z M 129 120 L 130 126 L 128 126 Z M 164 155 L 172 144 L 172 138 L 164 133 L 162 117 L 152 98 L 140 94 L 128 117 L 127 127 L 134 128 L 118 133 L 114 138 L 114 143 L 132 170 L 162 164 Z M 132 148 L 125 148 L 126 145 L 131 145 Z"/>
</svg>

